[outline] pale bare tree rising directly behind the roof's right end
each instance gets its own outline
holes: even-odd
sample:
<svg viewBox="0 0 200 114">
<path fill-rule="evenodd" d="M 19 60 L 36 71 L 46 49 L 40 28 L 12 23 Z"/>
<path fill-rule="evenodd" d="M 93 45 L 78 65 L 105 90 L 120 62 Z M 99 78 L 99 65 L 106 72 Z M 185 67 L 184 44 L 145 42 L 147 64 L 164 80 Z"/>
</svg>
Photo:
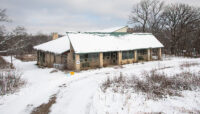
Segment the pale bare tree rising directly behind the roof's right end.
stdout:
<svg viewBox="0 0 200 114">
<path fill-rule="evenodd" d="M 142 0 L 136 6 L 133 6 L 129 16 L 129 23 L 142 28 L 142 32 L 149 29 L 155 31 L 159 28 L 160 14 L 164 2 L 158 0 Z"/>
</svg>

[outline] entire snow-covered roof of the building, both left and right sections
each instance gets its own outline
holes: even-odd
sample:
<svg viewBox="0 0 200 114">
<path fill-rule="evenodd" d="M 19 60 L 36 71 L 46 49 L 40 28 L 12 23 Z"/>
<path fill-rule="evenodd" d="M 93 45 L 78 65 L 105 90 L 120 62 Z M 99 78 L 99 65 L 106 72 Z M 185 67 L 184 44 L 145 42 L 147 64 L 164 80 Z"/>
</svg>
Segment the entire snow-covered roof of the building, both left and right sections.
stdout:
<svg viewBox="0 0 200 114">
<path fill-rule="evenodd" d="M 75 53 L 96 53 L 164 47 L 150 33 L 68 33 L 68 36 L 35 46 L 36 50 L 56 54 L 70 50 Z"/>
</svg>

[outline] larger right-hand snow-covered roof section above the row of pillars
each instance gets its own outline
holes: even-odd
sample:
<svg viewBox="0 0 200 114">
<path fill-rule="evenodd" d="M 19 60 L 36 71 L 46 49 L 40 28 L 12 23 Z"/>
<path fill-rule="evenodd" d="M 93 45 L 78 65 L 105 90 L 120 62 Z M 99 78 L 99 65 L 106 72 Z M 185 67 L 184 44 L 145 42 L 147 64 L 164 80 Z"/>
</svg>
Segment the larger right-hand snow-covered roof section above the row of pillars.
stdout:
<svg viewBox="0 0 200 114">
<path fill-rule="evenodd" d="M 95 53 L 164 47 L 150 33 L 70 33 L 75 53 Z"/>
</svg>

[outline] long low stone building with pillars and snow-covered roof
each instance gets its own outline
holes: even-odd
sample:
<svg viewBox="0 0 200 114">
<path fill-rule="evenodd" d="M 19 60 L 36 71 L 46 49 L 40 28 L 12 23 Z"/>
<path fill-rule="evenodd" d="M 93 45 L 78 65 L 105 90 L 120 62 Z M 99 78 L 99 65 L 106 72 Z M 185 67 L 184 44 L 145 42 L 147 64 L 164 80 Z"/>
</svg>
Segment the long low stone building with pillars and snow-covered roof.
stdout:
<svg viewBox="0 0 200 114">
<path fill-rule="evenodd" d="M 150 33 L 84 32 L 35 46 L 37 64 L 69 70 L 161 59 L 164 46 Z"/>
</svg>

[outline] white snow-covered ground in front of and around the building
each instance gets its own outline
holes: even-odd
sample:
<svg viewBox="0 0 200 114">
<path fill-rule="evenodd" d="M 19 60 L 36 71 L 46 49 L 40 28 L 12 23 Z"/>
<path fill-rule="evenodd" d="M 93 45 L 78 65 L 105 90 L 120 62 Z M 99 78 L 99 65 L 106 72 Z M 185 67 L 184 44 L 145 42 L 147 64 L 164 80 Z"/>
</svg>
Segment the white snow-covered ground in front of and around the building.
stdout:
<svg viewBox="0 0 200 114">
<path fill-rule="evenodd" d="M 4 57 L 7 61 L 9 57 Z M 0 114 L 29 114 L 41 104 L 48 103 L 55 95 L 56 102 L 50 107 L 50 114 L 133 114 L 133 113 L 190 113 L 200 110 L 200 92 L 183 91 L 182 97 L 167 97 L 160 100 L 145 99 L 143 94 L 119 94 L 102 92 L 101 84 L 107 77 L 122 73 L 131 77 L 144 71 L 161 68 L 169 75 L 183 70 L 199 72 L 200 65 L 180 68 L 184 62 L 199 63 L 200 59 L 168 57 L 163 61 L 114 66 L 87 70 L 69 76 L 68 73 L 53 72 L 53 68 L 38 68 L 36 62 L 14 60 L 26 85 L 14 94 L 0 96 Z M 162 69 L 162 68 L 166 69 Z"/>
</svg>

